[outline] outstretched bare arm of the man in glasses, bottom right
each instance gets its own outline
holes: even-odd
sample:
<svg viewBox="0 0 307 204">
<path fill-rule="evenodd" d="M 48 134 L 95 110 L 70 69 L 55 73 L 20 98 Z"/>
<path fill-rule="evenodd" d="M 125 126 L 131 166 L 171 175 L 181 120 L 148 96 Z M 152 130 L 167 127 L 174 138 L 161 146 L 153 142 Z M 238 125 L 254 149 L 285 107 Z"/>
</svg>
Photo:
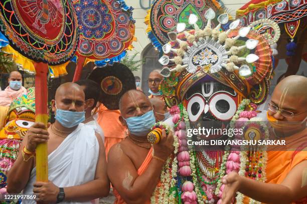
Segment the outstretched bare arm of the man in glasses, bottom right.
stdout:
<svg viewBox="0 0 307 204">
<path fill-rule="evenodd" d="M 223 183 L 223 204 L 230 203 L 233 194 L 239 192 L 265 203 L 290 203 L 307 196 L 307 185 L 302 183 L 307 160 L 293 167 L 281 184 L 263 183 L 236 173 L 230 173 Z M 304 185 L 303 185 L 304 184 Z M 281 196 L 282 195 L 282 196 Z"/>
</svg>

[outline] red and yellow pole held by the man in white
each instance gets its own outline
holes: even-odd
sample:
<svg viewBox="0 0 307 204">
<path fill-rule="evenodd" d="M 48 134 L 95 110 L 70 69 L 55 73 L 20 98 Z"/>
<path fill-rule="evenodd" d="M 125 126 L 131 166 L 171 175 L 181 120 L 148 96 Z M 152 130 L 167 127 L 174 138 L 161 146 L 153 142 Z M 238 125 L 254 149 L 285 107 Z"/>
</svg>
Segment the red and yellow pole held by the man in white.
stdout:
<svg viewBox="0 0 307 204">
<path fill-rule="evenodd" d="M 39 62 L 34 64 L 35 75 L 35 121 L 48 125 L 48 64 Z M 48 182 L 48 151 L 47 142 L 36 147 L 36 181 Z"/>
</svg>

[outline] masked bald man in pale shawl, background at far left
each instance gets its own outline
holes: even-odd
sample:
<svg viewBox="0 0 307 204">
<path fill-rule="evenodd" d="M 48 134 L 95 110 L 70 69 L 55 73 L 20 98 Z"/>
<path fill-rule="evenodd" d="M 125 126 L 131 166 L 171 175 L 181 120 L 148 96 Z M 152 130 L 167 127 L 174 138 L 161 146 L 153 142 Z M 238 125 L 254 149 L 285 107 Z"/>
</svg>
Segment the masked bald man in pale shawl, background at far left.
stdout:
<svg viewBox="0 0 307 204">
<path fill-rule="evenodd" d="M 22 86 L 23 77 L 18 71 L 12 71 L 9 76 L 9 86 L 0 91 L 0 105 L 10 106 L 14 99 L 27 93 L 27 89 Z"/>
</svg>

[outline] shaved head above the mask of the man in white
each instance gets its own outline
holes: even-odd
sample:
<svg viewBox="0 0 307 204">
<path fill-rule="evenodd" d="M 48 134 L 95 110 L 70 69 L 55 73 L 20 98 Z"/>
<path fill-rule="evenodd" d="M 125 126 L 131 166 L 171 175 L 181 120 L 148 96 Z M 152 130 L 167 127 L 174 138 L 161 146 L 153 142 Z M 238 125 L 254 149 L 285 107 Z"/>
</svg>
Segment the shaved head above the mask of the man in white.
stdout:
<svg viewBox="0 0 307 204">
<path fill-rule="evenodd" d="M 85 94 L 82 87 L 76 83 L 68 82 L 61 84 L 52 100 L 52 110 L 57 108 L 70 111 L 84 110 Z"/>
</svg>

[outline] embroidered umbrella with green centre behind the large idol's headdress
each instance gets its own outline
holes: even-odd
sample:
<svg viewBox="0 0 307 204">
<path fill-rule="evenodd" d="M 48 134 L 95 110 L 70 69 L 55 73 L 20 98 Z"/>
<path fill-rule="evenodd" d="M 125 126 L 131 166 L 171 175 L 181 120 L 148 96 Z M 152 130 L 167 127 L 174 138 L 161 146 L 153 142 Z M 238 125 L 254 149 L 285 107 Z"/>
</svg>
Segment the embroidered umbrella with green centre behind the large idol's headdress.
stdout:
<svg viewBox="0 0 307 204">
<path fill-rule="evenodd" d="M 205 27 L 205 12 L 208 8 L 214 11 L 224 11 L 224 6 L 219 0 L 156 0 L 145 17 L 148 25 L 146 32 L 151 43 L 162 50 L 162 45 L 169 41 L 168 32 L 176 31 L 176 25 L 180 22 L 188 23 L 191 13 L 198 16 L 197 25 Z M 192 29 L 192 26 L 187 27 Z"/>
</svg>

